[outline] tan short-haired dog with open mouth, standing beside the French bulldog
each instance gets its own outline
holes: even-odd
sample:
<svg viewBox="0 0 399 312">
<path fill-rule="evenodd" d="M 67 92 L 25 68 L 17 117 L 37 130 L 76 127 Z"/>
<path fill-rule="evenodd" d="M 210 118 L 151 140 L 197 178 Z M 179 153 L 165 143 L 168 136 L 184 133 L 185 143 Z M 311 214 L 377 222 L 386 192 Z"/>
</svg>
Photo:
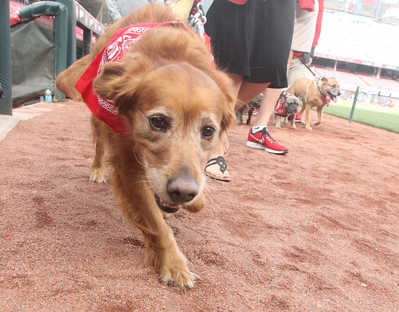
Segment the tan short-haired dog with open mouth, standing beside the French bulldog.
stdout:
<svg viewBox="0 0 399 312">
<path fill-rule="evenodd" d="M 295 79 L 286 91 L 296 96 L 304 95 L 302 99 L 302 109 L 299 112 L 300 122 L 306 124 L 306 129 L 312 130 L 310 126 L 310 110 L 316 107 L 318 121 L 314 122 L 317 126 L 323 121 L 323 109 L 325 105 L 329 105 L 330 100 L 337 102 L 337 97 L 341 95 L 340 85 L 335 78 L 322 78 L 318 81 L 306 77 Z M 306 122 L 303 113 L 306 112 Z"/>
</svg>

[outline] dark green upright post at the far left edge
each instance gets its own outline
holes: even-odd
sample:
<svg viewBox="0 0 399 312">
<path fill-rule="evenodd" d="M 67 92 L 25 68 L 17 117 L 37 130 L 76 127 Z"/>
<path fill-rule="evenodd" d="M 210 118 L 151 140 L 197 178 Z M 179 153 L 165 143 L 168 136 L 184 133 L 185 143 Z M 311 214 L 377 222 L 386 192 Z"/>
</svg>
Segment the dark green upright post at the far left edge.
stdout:
<svg viewBox="0 0 399 312">
<path fill-rule="evenodd" d="M 10 49 L 10 1 L 0 1 L 0 115 L 12 115 L 11 49 Z"/>
</svg>

